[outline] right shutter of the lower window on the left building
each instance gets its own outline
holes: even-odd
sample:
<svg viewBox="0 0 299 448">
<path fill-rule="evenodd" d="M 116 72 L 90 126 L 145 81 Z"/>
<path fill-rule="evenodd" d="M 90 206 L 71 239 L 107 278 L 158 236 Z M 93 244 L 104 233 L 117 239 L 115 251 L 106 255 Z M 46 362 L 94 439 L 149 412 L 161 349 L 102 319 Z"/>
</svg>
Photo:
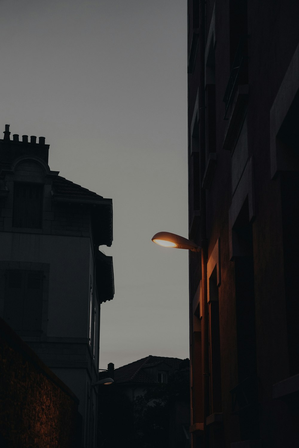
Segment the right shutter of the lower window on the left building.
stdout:
<svg viewBox="0 0 299 448">
<path fill-rule="evenodd" d="M 43 272 L 26 271 L 24 288 L 23 334 L 41 331 L 43 308 Z"/>
</svg>

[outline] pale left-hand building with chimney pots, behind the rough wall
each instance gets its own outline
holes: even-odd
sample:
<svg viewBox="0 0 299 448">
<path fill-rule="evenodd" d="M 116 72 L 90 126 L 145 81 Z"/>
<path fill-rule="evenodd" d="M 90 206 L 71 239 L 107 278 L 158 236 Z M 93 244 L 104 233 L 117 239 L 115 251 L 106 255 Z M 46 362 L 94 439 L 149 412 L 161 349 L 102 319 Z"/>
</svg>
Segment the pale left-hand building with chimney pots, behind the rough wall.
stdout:
<svg viewBox="0 0 299 448">
<path fill-rule="evenodd" d="M 51 171 L 43 137 L 0 140 L 0 314 L 74 392 L 95 447 L 100 304 L 113 298 L 112 200 Z"/>
</svg>

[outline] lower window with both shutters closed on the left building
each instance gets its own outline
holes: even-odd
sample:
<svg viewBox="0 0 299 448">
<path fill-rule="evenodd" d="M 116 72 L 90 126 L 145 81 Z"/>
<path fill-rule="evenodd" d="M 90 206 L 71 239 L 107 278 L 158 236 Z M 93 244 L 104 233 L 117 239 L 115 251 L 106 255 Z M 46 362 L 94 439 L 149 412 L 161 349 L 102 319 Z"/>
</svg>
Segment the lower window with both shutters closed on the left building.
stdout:
<svg viewBox="0 0 299 448">
<path fill-rule="evenodd" d="M 39 336 L 42 325 L 43 271 L 5 271 L 4 320 L 20 336 Z"/>
</svg>

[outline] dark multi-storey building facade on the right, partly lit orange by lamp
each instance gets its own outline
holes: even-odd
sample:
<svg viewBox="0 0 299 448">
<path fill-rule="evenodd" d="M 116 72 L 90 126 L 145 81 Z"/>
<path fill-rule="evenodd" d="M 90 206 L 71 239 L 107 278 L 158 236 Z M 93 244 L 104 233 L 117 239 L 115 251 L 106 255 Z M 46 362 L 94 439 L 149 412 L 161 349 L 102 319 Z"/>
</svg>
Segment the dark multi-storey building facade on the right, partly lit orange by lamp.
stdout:
<svg viewBox="0 0 299 448">
<path fill-rule="evenodd" d="M 191 443 L 299 437 L 299 3 L 188 0 Z"/>
</svg>

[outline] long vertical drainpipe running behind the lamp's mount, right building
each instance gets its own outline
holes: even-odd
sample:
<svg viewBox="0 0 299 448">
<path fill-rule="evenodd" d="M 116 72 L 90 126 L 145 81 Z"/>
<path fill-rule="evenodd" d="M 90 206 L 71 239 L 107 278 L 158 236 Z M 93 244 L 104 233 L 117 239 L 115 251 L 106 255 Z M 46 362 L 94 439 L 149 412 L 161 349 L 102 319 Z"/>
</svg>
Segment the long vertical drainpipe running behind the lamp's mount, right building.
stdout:
<svg viewBox="0 0 299 448">
<path fill-rule="evenodd" d="M 199 147 L 200 147 L 200 238 L 201 238 L 201 285 L 202 285 L 202 368 L 203 368 L 203 411 L 204 447 L 209 447 L 206 419 L 209 415 L 209 348 L 208 348 L 208 285 L 207 285 L 207 229 L 206 229 L 206 191 L 202 188 L 205 160 L 205 1 L 199 1 Z"/>
</svg>

